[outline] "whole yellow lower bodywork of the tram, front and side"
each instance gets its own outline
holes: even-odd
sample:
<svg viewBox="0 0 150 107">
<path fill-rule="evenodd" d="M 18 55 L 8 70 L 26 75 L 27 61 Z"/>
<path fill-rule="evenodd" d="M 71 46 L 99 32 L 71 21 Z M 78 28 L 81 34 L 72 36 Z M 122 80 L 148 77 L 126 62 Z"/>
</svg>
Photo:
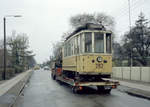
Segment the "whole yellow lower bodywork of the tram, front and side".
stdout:
<svg viewBox="0 0 150 107">
<path fill-rule="evenodd" d="M 98 62 L 97 58 L 101 57 Z M 78 55 L 63 58 L 63 71 L 78 72 L 81 75 L 101 75 L 110 77 L 112 73 L 111 55 Z"/>
</svg>

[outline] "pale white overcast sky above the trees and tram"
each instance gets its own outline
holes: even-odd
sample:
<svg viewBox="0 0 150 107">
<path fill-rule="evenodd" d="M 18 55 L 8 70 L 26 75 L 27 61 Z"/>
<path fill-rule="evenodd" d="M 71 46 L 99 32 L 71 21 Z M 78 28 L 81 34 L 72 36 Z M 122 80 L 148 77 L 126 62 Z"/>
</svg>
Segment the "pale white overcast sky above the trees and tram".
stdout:
<svg viewBox="0 0 150 107">
<path fill-rule="evenodd" d="M 38 63 L 49 59 L 52 43 L 59 41 L 70 28 L 69 18 L 79 13 L 106 13 L 115 18 L 116 40 L 129 29 L 128 0 L 0 0 L 0 39 L 3 39 L 3 17 L 7 18 L 7 35 L 12 30 L 27 33 L 30 49 Z M 150 0 L 131 0 L 132 25 L 140 12 L 150 19 Z"/>
</svg>

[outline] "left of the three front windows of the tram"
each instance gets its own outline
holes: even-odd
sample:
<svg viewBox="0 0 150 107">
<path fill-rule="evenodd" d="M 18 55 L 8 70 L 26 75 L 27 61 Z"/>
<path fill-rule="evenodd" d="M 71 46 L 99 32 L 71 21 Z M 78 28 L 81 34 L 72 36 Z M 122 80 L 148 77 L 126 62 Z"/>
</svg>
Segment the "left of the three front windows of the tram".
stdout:
<svg viewBox="0 0 150 107">
<path fill-rule="evenodd" d="M 91 32 L 85 33 L 85 52 L 86 53 L 92 52 L 92 33 Z"/>
</svg>

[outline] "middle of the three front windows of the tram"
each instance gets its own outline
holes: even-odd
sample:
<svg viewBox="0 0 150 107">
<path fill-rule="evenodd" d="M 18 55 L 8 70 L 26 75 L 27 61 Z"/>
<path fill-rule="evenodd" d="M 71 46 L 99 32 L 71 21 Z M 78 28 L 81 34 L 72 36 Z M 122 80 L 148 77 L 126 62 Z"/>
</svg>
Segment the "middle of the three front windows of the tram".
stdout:
<svg viewBox="0 0 150 107">
<path fill-rule="evenodd" d="M 96 53 L 104 53 L 104 34 L 95 32 L 94 40 L 94 51 Z"/>
</svg>

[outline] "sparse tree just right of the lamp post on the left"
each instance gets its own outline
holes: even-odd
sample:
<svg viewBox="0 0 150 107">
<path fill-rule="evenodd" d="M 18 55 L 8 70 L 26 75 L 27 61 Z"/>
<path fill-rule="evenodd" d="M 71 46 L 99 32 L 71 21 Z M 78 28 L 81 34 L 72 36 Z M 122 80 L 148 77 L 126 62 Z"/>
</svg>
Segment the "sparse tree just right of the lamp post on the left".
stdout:
<svg viewBox="0 0 150 107">
<path fill-rule="evenodd" d="M 16 36 L 13 32 L 12 36 L 7 39 L 7 44 L 7 49 L 9 53 L 11 53 L 12 63 L 14 64 L 16 72 L 21 72 L 25 68 L 28 68 L 29 65 L 27 64 L 30 64 L 29 59 L 34 56 L 32 55 L 33 52 L 28 50 L 28 36 L 25 33 L 20 33 Z"/>
</svg>

